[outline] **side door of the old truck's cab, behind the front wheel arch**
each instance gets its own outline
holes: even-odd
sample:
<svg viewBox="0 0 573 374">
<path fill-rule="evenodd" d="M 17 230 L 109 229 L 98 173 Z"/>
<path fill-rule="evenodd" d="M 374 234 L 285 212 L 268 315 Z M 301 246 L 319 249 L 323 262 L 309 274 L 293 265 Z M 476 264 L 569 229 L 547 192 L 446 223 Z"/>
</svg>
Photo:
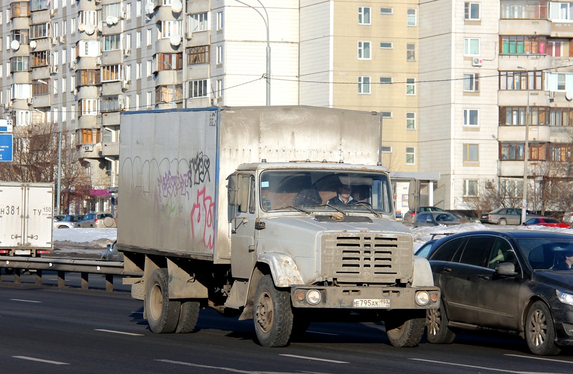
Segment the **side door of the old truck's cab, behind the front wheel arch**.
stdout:
<svg viewBox="0 0 573 374">
<path fill-rule="evenodd" d="M 249 279 L 256 260 L 254 242 L 255 184 L 254 176 L 241 174 L 241 204 L 236 205 L 234 219 L 231 220 L 231 272 L 235 278 Z"/>
</svg>

